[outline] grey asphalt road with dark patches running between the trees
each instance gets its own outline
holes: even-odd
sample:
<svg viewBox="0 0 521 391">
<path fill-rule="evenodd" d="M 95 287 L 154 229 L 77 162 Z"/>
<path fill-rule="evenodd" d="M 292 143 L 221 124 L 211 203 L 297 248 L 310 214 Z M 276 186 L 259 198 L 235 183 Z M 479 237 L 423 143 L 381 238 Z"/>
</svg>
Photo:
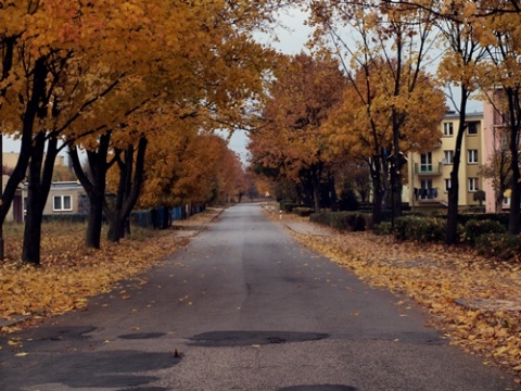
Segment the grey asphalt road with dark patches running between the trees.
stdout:
<svg viewBox="0 0 521 391">
<path fill-rule="evenodd" d="M 144 277 L 11 336 L 23 346 L 0 350 L 0 390 L 521 389 L 258 205 L 226 210 Z"/>
</svg>

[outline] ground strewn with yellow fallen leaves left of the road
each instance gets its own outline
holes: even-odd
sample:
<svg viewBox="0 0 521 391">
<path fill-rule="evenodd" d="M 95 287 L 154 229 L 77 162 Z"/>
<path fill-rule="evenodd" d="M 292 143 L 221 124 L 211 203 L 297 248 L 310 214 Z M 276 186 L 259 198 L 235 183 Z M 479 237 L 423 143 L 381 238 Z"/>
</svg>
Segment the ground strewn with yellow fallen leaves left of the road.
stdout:
<svg viewBox="0 0 521 391">
<path fill-rule="evenodd" d="M 207 209 L 188 220 L 176 222 L 176 229 L 132 229 L 120 243 L 102 242 L 102 250 L 84 245 L 85 225 L 46 224 L 42 235 L 41 266 L 18 261 L 23 226 L 4 229 L 5 260 L 0 263 L 0 319 L 23 316 L 27 320 L 0 328 L 11 332 L 42 317 L 81 310 L 89 297 L 111 291 L 122 279 L 139 278 L 158 261 L 188 242 L 187 232 L 200 230 L 220 209 Z"/>
</svg>

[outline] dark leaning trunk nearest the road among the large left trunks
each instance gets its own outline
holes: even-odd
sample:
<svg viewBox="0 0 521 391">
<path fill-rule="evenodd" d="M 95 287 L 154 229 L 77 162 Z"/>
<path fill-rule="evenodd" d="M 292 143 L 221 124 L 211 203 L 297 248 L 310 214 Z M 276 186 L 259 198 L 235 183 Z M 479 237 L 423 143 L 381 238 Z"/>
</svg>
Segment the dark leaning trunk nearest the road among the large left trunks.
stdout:
<svg viewBox="0 0 521 391">
<path fill-rule="evenodd" d="M 107 240 L 119 242 L 125 235 L 125 226 L 130 213 L 138 202 L 144 178 L 144 155 L 147 152 L 147 138 L 142 136 L 138 143 L 136 164 L 134 163 L 135 148 L 129 146 L 123 153 L 119 151 L 119 186 L 114 207 L 111 210 L 105 203 L 105 213 L 109 216 Z"/>
</svg>

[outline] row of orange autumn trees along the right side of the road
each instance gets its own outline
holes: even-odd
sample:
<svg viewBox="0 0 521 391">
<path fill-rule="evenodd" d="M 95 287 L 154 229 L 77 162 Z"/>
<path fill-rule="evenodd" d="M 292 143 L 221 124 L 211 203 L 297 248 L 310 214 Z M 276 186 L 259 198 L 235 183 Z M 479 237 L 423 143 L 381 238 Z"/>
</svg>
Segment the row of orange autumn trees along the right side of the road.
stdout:
<svg viewBox="0 0 521 391">
<path fill-rule="evenodd" d="M 452 85 L 459 90 L 457 98 L 449 99 L 459 112 L 460 127 L 450 174 L 446 242 L 455 243 L 467 103 L 472 93 L 499 88 L 506 99 L 493 103 L 507 113 L 510 175 L 505 177 L 510 178 L 512 190 L 510 231 L 518 234 L 521 125 L 518 2 L 326 0 L 305 5 L 309 7 L 309 23 L 315 26 L 310 45 L 318 54 L 313 59 L 304 54 L 290 59 L 287 72 L 297 72 L 295 64 L 301 63 L 300 72 L 307 74 L 308 79 L 320 79 L 320 87 L 313 91 L 314 84 L 304 81 L 295 86 L 283 72 L 277 75 L 271 104 L 279 106 L 279 113 L 274 115 L 266 106 L 264 114 L 271 129 L 257 133 L 251 143 L 256 171 L 283 175 L 298 184 L 305 184 L 304 176 L 318 173 L 321 182 L 330 182 L 331 176 L 345 172 L 342 167 L 346 162 L 351 166 L 365 164 L 372 180 L 374 222 L 381 220 L 382 205 L 386 203 L 399 215 L 404 155 L 408 151 L 428 150 L 439 141 L 439 124 L 446 111 L 442 91 Z M 314 65 L 304 65 L 306 62 Z M 437 70 L 429 72 L 434 70 L 433 65 Z M 341 75 L 336 66 L 343 71 Z M 340 81 L 332 81 L 333 77 Z M 285 85 L 282 91 L 285 98 L 280 97 L 278 85 Z M 328 91 L 327 99 L 322 99 L 322 90 Z M 315 100 L 305 98 L 306 94 Z M 294 105 L 290 109 L 282 103 L 283 99 Z M 291 150 L 296 154 L 290 154 L 290 149 L 277 151 L 266 147 L 269 135 L 276 133 L 278 138 L 291 140 Z M 305 140 L 302 146 L 313 143 L 313 148 L 305 151 L 295 147 L 301 139 Z"/>
</svg>

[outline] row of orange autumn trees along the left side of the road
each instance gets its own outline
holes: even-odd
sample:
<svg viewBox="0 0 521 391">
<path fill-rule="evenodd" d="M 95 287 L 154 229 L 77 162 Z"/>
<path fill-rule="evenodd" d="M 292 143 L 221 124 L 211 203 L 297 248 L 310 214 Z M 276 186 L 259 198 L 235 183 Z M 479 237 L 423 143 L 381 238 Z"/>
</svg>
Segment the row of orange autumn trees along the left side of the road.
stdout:
<svg viewBox="0 0 521 391">
<path fill-rule="evenodd" d="M 90 201 L 87 245 L 93 248 L 103 213 L 110 239 L 119 240 L 143 182 L 148 205 L 190 197 L 182 180 L 212 189 L 198 182 L 207 177 L 198 169 L 216 168 L 194 154 L 238 169 L 237 156 L 211 133 L 252 126 L 272 52 L 251 34 L 269 21 L 272 7 L 249 0 L 0 1 L 0 126 L 21 144 L 1 194 L 0 226 L 26 179 L 23 261 L 40 262 L 42 211 L 64 149 Z M 193 173 L 177 172 L 176 159 L 191 159 Z M 111 203 L 107 176 L 117 194 Z"/>
</svg>

